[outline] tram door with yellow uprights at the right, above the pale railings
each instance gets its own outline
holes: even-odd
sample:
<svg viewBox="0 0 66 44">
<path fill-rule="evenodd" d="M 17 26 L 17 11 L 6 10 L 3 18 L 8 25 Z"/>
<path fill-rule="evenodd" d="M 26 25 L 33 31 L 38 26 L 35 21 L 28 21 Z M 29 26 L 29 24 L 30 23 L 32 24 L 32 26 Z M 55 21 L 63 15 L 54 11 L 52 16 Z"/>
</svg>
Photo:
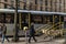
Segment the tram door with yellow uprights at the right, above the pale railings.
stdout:
<svg viewBox="0 0 66 44">
<path fill-rule="evenodd" d="M 62 28 L 62 16 L 53 15 L 53 29 L 59 30 Z"/>
</svg>

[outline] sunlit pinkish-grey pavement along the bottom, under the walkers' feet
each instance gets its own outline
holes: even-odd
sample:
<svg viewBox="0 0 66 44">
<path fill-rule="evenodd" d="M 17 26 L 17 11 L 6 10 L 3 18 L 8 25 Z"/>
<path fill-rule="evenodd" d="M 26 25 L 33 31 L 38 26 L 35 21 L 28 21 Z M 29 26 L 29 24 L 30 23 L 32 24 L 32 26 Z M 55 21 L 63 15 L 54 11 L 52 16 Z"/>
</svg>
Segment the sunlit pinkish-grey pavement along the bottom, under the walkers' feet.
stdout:
<svg viewBox="0 0 66 44">
<path fill-rule="evenodd" d="M 1 40 L 1 38 L 0 38 Z M 36 37 L 37 42 L 34 42 L 33 40 L 31 41 L 31 43 L 25 42 L 25 37 L 20 37 L 19 42 L 12 42 L 12 38 L 9 38 L 10 42 L 7 42 L 7 40 L 4 40 L 4 44 L 63 44 L 65 42 L 65 38 L 53 38 L 53 40 L 44 40 L 43 37 Z M 0 42 L 1 44 L 1 42 Z"/>
</svg>

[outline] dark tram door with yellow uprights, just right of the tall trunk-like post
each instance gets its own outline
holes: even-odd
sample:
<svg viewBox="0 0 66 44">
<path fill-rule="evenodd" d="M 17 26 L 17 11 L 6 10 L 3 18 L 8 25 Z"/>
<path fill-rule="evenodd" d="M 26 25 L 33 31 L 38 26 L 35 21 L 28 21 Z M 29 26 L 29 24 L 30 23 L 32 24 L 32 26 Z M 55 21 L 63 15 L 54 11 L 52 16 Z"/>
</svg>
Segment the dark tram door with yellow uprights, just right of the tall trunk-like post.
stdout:
<svg viewBox="0 0 66 44">
<path fill-rule="evenodd" d="M 20 29 L 23 30 L 24 26 L 30 26 L 30 13 L 20 13 L 19 14 L 19 24 Z"/>
</svg>

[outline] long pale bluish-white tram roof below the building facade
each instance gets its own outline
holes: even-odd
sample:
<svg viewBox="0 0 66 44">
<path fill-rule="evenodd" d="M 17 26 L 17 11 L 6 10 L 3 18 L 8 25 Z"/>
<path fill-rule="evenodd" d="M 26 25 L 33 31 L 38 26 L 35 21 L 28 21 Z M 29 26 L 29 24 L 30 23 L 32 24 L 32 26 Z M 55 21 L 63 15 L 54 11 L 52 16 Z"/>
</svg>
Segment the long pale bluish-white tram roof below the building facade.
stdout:
<svg viewBox="0 0 66 44">
<path fill-rule="evenodd" d="M 14 13 L 15 10 L 13 9 L 0 9 L 0 13 Z M 64 12 L 46 12 L 46 11 L 33 11 L 33 10 L 18 10 L 18 12 L 25 12 L 31 14 L 63 14 L 66 15 Z"/>
</svg>

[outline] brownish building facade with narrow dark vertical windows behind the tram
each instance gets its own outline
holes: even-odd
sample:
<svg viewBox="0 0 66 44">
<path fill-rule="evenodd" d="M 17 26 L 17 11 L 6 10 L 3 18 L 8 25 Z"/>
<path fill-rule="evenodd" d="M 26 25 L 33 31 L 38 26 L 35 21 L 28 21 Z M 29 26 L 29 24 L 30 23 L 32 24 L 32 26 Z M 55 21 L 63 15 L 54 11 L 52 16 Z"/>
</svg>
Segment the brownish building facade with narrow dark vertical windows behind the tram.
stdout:
<svg viewBox="0 0 66 44">
<path fill-rule="evenodd" d="M 1 8 L 15 8 L 15 0 L 0 0 L 10 6 L 0 3 Z M 18 9 L 66 12 L 66 0 L 18 0 Z"/>
</svg>

